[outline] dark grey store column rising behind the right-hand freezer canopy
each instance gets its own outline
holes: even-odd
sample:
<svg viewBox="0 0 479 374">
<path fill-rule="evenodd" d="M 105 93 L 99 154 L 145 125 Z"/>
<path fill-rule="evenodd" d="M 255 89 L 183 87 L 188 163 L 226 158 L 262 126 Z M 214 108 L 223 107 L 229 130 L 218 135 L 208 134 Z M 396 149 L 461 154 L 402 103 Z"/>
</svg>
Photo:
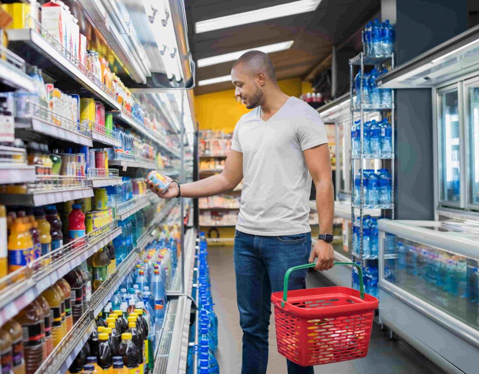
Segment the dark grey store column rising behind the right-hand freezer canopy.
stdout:
<svg viewBox="0 0 479 374">
<path fill-rule="evenodd" d="M 468 27 L 467 0 L 381 0 L 381 15 L 395 24 L 396 66 Z M 433 219 L 431 89 L 399 89 L 395 96 L 395 218 Z"/>
</svg>

